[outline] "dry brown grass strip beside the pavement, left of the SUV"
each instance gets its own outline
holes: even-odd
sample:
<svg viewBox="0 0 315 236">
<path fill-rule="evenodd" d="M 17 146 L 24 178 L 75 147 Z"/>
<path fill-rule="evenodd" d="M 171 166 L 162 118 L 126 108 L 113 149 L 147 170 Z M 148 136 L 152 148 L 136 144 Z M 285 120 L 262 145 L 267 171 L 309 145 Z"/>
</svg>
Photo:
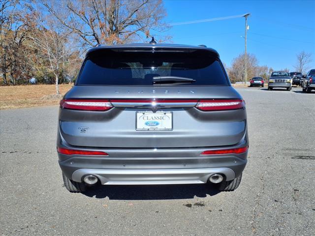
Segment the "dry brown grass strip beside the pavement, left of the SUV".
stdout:
<svg viewBox="0 0 315 236">
<path fill-rule="evenodd" d="M 60 85 L 61 94 L 71 87 L 72 85 Z M 50 94 L 56 94 L 55 85 L 0 86 L 0 110 L 58 105 L 59 98 L 47 99 Z"/>
</svg>

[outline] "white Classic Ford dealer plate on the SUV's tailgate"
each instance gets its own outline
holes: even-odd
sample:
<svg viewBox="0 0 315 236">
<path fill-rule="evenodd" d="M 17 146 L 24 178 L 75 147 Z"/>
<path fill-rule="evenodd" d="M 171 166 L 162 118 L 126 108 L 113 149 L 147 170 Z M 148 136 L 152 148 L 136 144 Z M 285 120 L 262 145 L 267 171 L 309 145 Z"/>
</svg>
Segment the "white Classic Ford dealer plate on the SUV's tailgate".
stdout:
<svg viewBox="0 0 315 236">
<path fill-rule="evenodd" d="M 173 130 L 173 112 L 136 112 L 136 130 Z"/>
</svg>

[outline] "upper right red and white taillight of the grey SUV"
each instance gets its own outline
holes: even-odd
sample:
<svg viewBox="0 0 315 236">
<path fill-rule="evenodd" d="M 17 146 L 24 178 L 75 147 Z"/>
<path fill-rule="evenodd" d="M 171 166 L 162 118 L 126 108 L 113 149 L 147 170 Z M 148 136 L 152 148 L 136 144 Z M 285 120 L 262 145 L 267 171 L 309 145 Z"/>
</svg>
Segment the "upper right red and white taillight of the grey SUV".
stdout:
<svg viewBox="0 0 315 236">
<path fill-rule="evenodd" d="M 201 111 L 228 111 L 244 107 L 245 101 L 242 99 L 201 99 L 196 105 Z"/>
</svg>

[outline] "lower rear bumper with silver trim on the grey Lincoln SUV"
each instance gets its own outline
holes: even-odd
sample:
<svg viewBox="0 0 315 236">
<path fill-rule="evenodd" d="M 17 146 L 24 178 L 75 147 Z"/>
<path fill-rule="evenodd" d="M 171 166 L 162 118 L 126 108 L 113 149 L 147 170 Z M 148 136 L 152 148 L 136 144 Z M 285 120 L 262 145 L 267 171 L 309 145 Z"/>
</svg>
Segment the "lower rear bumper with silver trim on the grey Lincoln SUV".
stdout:
<svg viewBox="0 0 315 236">
<path fill-rule="evenodd" d="M 66 155 L 59 154 L 59 165 L 63 173 L 74 181 L 82 182 L 84 176 L 95 175 L 101 184 L 206 183 L 213 174 L 223 174 L 226 180 L 232 180 L 246 166 L 247 152 L 196 156 L 204 150 L 124 150 L 119 151 L 121 157 L 74 155 L 66 159 Z"/>
</svg>

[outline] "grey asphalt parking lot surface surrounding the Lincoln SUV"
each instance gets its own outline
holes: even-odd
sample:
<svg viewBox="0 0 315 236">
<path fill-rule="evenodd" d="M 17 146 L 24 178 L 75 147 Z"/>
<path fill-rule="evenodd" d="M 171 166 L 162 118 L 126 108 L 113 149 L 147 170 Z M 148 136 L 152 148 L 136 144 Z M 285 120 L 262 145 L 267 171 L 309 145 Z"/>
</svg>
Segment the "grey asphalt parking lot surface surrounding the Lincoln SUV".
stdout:
<svg viewBox="0 0 315 236">
<path fill-rule="evenodd" d="M 87 236 L 315 235 L 315 92 L 237 90 L 250 151 L 240 187 L 63 186 L 57 106 L 1 111 L 0 234 Z"/>
</svg>

